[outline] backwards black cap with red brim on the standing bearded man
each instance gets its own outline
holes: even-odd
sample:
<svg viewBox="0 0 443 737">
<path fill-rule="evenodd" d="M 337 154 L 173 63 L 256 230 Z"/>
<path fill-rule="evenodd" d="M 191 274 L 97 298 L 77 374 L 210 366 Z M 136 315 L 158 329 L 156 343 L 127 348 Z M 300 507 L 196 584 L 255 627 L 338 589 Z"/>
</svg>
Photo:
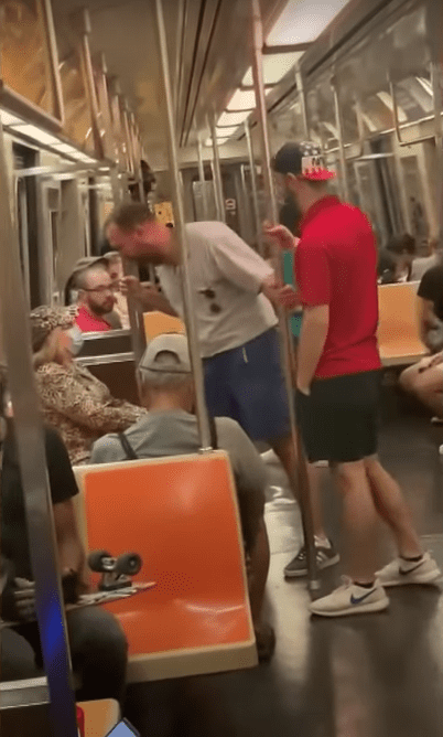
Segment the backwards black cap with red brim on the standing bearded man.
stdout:
<svg viewBox="0 0 443 737">
<path fill-rule="evenodd" d="M 335 177 L 335 172 L 326 168 L 320 146 L 312 141 L 284 143 L 272 159 L 272 169 L 279 174 L 295 174 L 313 182 Z"/>
</svg>

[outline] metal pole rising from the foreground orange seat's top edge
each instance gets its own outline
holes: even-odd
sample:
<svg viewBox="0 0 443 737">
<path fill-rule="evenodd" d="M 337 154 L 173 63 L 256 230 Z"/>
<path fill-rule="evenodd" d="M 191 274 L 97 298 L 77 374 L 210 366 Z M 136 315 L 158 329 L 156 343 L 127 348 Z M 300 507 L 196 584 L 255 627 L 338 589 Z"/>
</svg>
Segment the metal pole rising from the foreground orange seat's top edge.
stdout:
<svg viewBox="0 0 443 737">
<path fill-rule="evenodd" d="M 205 403 L 203 363 L 199 353 L 197 325 L 195 320 L 195 309 L 193 305 L 194 300 L 193 300 L 193 291 L 191 285 L 191 274 L 190 274 L 190 247 L 186 236 L 183 200 L 181 196 L 179 156 L 175 141 L 176 126 L 175 126 L 174 106 L 173 106 L 172 89 L 171 89 L 170 64 L 168 56 L 166 31 L 164 28 L 162 0 L 155 0 L 155 19 L 156 19 L 159 52 L 161 60 L 161 76 L 164 87 L 164 99 L 166 106 L 165 110 L 168 119 L 166 130 L 168 130 L 168 143 L 170 151 L 173 194 L 174 194 L 175 232 L 182 248 L 181 270 L 183 279 L 183 298 L 184 298 L 187 339 L 190 343 L 191 362 L 194 374 L 194 384 L 196 394 L 196 415 L 198 420 L 199 441 L 202 450 L 209 450 L 212 447 L 209 419 Z"/>
</svg>

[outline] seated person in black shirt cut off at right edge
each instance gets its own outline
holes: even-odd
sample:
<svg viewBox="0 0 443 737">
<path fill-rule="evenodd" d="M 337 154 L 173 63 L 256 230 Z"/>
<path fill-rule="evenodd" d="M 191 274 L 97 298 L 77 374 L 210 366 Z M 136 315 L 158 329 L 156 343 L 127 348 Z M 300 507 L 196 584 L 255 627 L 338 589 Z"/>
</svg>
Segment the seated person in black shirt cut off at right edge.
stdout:
<svg viewBox="0 0 443 737">
<path fill-rule="evenodd" d="M 429 269 L 418 290 L 420 338 L 428 356 L 406 368 L 400 386 L 433 413 L 433 421 L 443 420 L 443 264 Z"/>
</svg>

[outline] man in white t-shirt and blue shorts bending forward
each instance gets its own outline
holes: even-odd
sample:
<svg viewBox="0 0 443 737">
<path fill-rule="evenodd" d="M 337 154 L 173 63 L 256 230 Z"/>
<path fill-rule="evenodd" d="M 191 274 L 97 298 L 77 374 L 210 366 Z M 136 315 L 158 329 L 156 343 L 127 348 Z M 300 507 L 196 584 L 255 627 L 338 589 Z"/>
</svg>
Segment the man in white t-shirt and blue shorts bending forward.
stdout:
<svg viewBox="0 0 443 737">
<path fill-rule="evenodd" d="M 209 413 L 213 417 L 231 417 L 252 440 L 269 442 L 290 478 L 294 478 L 296 458 L 281 371 L 278 320 L 271 305 L 280 295 L 275 275 L 224 223 L 188 223 L 186 235 Z M 183 318 L 181 248 L 174 231 L 156 222 L 145 205 L 131 203 L 114 213 L 107 236 L 126 258 L 156 266 L 163 293 L 162 305 L 156 295 L 155 308 Z M 142 291 L 139 297 L 143 299 Z M 144 306 L 150 307 L 149 299 Z M 338 556 L 325 535 L 318 496 L 314 489 L 317 565 L 325 568 Z M 285 575 L 305 574 L 302 548 L 296 566 L 287 568 Z"/>
</svg>

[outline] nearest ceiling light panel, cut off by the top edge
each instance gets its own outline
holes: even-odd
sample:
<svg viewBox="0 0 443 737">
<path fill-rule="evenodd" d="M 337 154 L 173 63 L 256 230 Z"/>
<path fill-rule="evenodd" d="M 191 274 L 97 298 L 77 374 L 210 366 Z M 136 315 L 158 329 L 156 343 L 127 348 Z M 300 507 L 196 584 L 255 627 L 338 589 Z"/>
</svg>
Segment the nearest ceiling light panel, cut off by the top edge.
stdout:
<svg viewBox="0 0 443 737">
<path fill-rule="evenodd" d="M 266 40 L 267 45 L 315 41 L 347 2 L 348 0 L 289 0 Z"/>
</svg>

